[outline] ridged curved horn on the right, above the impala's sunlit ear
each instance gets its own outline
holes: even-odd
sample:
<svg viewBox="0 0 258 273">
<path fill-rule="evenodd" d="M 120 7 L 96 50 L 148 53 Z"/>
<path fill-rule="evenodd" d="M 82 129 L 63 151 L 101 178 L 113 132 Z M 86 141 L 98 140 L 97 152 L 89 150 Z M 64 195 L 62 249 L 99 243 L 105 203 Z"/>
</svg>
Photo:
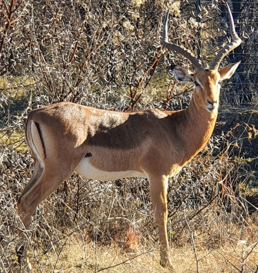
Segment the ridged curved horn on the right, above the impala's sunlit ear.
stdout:
<svg viewBox="0 0 258 273">
<path fill-rule="evenodd" d="M 231 52 L 233 49 L 237 48 L 242 40 L 239 38 L 239 36 L 236 33 L 235 30 L 235 25 L 234 25 L 234 19 L 231 13 L 231 10 L 229 8 L 228 3 L 227 7 L 228 7 L 228 16 L 229 16 L 229 22 L 230 22 L 230 33 L 231 33 L 231 37 L 233 39 L 233 41 L 231 43 L 229 43 L 228 45 L 224 46 L 224 48 L 222 48 L 220 50 L 220 52 L 218 53 L 218 55 L 215 57 L 215 59 L 212 62 L 211 68 L 213 70 L 218 70 L 219 66 L 220 66 L 220 62 L 223 60 L 223 58 L 228 55 L 229 52 Z"/>
</svg>

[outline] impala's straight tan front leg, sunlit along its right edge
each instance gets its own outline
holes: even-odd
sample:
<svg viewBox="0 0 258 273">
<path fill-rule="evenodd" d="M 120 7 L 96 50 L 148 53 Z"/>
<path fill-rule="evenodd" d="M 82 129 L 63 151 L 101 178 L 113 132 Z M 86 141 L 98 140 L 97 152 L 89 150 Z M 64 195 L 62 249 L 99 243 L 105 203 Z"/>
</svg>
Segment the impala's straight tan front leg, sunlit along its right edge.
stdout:
<svg viewBox="0 0 258 273">
<path fill-rule="evenodd" d="M 166 175 L 151 175 L 150 197 L 156 215 L 160 240 L 160 264 L 164 267 L 174 268 L 170 259 L 169 244 L 167 238 L 167 186 Z"/>
</svg>

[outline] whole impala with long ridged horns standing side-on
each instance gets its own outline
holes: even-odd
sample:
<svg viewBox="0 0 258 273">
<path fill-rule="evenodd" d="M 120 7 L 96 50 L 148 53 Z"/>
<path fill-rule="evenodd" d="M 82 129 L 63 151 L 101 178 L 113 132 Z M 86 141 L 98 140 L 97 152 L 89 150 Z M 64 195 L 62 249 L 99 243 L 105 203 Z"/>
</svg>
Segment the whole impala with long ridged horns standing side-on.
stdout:
<svg viewBox="0 0 258 273">
<path fill-rule="evenodd" d="M 184 110 L 116 112 L 60 102 L 30 112 L 26 141 L 35 169 L 18 200 L 18 213 L 26 228 L 37 205 L 74 171 L 96 180 L 144 177 L 149 181 L 159 228 L 160 264 L 173 267 L 167 238 L 168 179 L 210 139 L 218 115 L 220 84 L 240 63 L 219 70 L 222 59 L 241 44 L 229 7 L 228 14 L 233 40 L 220 50 L 210 69 L 204 70 L 187 50 L 169 43 L 167 12 L 163 46 L 188 58 L 196 69 L 191 72 L 171 66 L 177 80 L 195 85 L 189 107 Z M 23 251 L 24 247 L 20 256 Z"/>
</svg>

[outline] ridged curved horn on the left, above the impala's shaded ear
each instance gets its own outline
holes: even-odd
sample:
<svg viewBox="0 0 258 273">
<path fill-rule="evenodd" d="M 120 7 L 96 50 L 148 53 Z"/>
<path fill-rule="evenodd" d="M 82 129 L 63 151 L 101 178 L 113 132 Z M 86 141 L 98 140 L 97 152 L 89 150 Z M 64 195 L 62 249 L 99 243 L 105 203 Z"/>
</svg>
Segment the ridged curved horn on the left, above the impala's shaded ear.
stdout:
<svg viewBox="0 0 258 273">
<path fill-rule="evenodd" d="M 168 34 L 167 34 L 167 21 L 169 17 L 169 10 L 167 11 L 167 15 L 165 17 L 164 21 L 164 27 L 163 27 L 163 38 L 162 38 L 162 45 L 165 46 L 165 48 L 169 50 L 176 51 L 180 53 L 181 55 L 185 56 L 196 68 L 197 71 L 203 70 L 202 66 L 200 65 L 200 60 L 198 60 L 196 57 L 192 55 L 192 53 L 189 50 L 186 50 L 185 48 L 181 48 L 175 44 L 169 43 L 168 41 Z"/>
</svg>

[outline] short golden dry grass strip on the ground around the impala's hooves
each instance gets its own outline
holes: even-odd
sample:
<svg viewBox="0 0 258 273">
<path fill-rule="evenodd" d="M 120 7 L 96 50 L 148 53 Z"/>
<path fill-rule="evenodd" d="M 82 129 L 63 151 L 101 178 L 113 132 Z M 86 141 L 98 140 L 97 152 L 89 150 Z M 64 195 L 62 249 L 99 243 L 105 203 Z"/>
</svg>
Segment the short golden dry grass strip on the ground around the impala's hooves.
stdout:
<svg viewBox="0 0 258 273">
<path fill-rule="evenodd" d="M 257 272 L 258 248 L 251 248 L 251 245 L 239 244 L 194 253 L 189 245 L 173 248 L 171 256 L 178 273 Z M 36 251 L 35 254 L 37 264 L 34 262 L 33 272 L 169 272 L 169 269 L 159 265 L 157 246 L 146 248 L 138 245 L 135 252 L 128 253 L 116 243 L 111 246 L 100 246 L 93 242 L 87 244 L 81 236 L 71 236 L 62 249 L 55 249 L 47 254 Z M 13 272 L 15 267 L 18 271 L 16 264 Z"/>
</svg>

